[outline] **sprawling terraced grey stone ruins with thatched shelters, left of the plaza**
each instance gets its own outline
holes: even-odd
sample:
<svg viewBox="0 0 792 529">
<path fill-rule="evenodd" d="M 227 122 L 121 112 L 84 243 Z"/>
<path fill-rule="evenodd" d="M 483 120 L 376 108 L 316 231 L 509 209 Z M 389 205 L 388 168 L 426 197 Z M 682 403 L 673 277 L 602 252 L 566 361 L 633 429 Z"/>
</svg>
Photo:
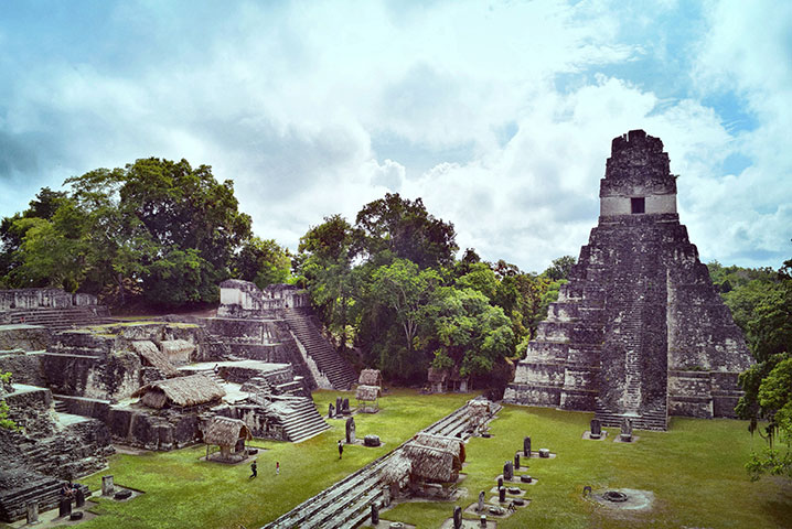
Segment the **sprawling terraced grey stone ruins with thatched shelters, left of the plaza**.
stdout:
<svg viewBox="0 0 792 529">
<path fill-rule="evenodd" d="M 49 508 L 60 483 L 106 465 L 113 443 L 168 451 L 203 441 L 216 418 L 299 442 L 330 428 L 311 390 L 357 377 L 311 320 L 307 294 L 221 285 L 216 317 L 114 322 L 87 294 L 0 293 L 0 398 L 24 432 L 0 430 L 0 520 Z M 215 421 L 216 422 L 216 421 Z"/>
</svg>

